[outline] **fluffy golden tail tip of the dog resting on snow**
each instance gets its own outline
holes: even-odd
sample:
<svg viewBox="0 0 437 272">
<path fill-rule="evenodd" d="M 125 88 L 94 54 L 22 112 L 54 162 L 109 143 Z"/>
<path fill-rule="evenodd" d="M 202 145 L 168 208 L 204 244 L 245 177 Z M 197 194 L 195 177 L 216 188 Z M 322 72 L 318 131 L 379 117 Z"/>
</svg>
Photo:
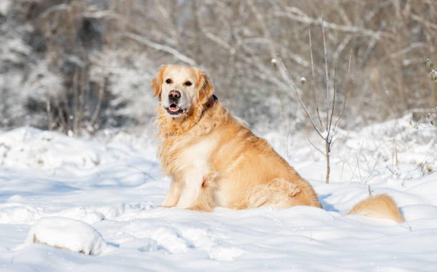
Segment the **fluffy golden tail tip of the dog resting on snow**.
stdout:
<svg viewBox="0 0 437 272">
<path fill-rule="evenodd" d="M 385 194 L 369 196 L 363 201 L 358 202 L 348 214 L 367 216 L 373 218 L 386 218 L 397 223 L 405 222 L 401 212 L 393 201 L 393 198 Z"/>
</svg>

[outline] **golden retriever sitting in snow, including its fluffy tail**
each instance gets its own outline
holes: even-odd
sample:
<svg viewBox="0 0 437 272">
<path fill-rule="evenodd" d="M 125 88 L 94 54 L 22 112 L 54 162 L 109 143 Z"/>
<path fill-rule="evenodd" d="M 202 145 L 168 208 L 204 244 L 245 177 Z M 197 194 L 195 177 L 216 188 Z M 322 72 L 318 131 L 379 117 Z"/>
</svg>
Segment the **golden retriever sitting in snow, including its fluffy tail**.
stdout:
<svg viewBox="0 0 437 272">
<path fill-rule="evenodd" d="M 223 108 L 202 71 L 162 66 L 151 87 L 159 97 L 158 156 L 171 176 L 162 206 L 198 211 L 216 206 L 322 208 L 310 183 Z M 385 195 L 361 201 L 350 213 L 403 221 Z"/>
</svg>

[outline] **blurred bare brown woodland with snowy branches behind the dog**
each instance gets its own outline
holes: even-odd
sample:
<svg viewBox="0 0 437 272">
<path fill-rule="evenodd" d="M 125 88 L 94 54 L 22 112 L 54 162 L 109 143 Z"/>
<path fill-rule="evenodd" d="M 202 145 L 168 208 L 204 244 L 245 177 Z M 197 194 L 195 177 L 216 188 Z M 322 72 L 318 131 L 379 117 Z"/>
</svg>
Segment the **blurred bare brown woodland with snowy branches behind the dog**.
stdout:
<svg viewBox="0 0 437 272">
<path fill-rule="evenodd" d="M 323 93 L 322 9 L 337 109 L 352 54 L 341 127 L 435 116 L 436 83 L 423 62 L 437 62 L 436 1 L 1 0 L 0 130 L 149 131 L 150 81 L 162 64 L 204 69 L 223 104 L 258 133 L 303 130 L 306 117 L 271 59 L 281 56 L 314 113 L 308 29 Z"/>
</svg>

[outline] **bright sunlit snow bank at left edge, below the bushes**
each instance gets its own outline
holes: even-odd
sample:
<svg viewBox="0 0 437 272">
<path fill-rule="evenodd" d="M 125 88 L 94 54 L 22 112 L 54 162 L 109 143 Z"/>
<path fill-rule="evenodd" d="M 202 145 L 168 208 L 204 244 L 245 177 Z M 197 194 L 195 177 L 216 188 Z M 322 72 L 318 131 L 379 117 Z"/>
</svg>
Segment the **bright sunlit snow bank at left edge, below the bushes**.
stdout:
<svg viewBox="0 0 437 272">
<path fill-rule="evenodd" d="M 0 166 L 9 168 L 61 167 L 92 169 L 104 163 L 123 161 L 130 147 L 114 146 L 101 141 L 84 142 L 54 131 L 23 127 L 0 134 Z"/>
</svg>

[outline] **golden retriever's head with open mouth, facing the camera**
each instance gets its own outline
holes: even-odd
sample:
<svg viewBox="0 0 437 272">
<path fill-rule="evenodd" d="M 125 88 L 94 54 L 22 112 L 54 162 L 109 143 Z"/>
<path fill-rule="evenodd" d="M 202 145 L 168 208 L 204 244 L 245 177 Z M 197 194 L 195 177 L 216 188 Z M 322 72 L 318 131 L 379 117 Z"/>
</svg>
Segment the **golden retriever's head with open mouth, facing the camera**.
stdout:
<svg viewBox="0 0 437 272">
<path fill-rule="evenodd" d="M 162 66 L 151 87 L 161 106 L 171 117 L 189 115 L 203 109 L 214 87 L 206 74 L 189 66 Z"/>
</svg>

